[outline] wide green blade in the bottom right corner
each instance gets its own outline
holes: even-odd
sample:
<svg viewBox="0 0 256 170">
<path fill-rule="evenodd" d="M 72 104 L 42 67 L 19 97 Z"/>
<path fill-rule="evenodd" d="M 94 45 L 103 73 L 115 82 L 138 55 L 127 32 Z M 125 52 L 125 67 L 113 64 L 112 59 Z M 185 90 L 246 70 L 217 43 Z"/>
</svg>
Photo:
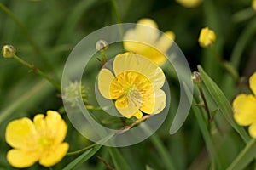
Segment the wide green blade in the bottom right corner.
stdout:
<svg viewBox="0 0 256 170">
<path fill-rule="evenodd" d="M 251 139 L 246 147 L 241 150 L 240 154 L 236 159 L 230 164 L 227 170 L 239 170 L 244 169 L 253 159 L 256 153 L 256 140 Z"/>
</svg>

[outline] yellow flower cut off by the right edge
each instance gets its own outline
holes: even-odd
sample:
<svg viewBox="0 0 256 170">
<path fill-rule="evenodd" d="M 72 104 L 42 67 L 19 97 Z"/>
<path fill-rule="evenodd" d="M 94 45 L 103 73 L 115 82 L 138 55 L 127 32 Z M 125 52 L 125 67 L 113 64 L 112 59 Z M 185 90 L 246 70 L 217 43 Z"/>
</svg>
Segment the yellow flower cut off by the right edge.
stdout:
<svg viewBox="0 0 256 170">
<path fill-rule="evenodd" d="M 234 118 L 241 126 L 250 126 L 249 133 L 256 139 L 256 72 L 250 77 L 253 94 L 239 94 L 233 101 Z"/>
</svg>

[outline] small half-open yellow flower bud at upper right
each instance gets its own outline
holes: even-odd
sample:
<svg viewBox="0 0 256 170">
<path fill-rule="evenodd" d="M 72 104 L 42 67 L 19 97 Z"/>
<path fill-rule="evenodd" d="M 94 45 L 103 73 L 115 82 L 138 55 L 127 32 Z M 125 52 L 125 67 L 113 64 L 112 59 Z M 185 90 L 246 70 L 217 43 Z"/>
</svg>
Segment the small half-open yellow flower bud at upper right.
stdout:
<svg viewBox="0 0 256 170">
<path fill-rule="evenodd" d="M 198 42 L 202 48 L 207 48 L 215 42 L 216 36 L 214 31 L 210 30 L 208 27 L 201 29 Z"/>
</svg>

